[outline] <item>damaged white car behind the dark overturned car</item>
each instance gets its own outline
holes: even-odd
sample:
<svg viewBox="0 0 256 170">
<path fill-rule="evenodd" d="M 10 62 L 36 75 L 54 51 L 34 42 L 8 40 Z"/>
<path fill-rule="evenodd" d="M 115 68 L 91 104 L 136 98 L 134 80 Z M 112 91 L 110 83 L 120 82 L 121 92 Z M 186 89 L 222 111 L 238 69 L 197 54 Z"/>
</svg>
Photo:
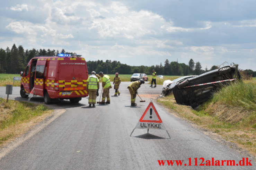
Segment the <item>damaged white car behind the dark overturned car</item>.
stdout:
<svg viewBox="0 0 256 170">
<path fill-rule="evenodd" d="M 176 84 L 183 82 L 184 80 L 187 80 L 192 77 L 196 77 L 196 76 L 183 76 L 174 80 L 165 80 L 163 83 L 163 89 L 160 96 L 161 97 L 168 96 L 173 91 L 173 88 L 176 86 Z"/>
</svg>

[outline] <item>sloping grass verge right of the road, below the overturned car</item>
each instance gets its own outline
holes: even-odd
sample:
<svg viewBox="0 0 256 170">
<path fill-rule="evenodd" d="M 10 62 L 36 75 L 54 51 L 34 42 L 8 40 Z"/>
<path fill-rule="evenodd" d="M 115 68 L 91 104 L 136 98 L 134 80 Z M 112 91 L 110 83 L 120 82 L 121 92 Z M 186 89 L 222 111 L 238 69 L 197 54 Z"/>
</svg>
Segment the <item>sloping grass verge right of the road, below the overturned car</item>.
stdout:
<svg viewBox="0 0 256 170">
<path fill-rule="evenodd" d="M 238 81 L 223 87 L 197 110 L 177 104 L 174 96 L 158 99 L 178 117 L 185 118 L 256 157 L 256 84 Z"/>
</svg>

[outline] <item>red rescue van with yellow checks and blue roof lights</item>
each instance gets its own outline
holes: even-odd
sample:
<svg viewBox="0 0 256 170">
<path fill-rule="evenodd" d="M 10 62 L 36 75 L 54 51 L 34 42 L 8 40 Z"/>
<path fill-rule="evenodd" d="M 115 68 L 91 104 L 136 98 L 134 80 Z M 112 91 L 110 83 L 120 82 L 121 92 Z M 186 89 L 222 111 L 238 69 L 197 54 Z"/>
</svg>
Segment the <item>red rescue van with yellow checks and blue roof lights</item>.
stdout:
<svg viewBox="0 0 256 170">
<path fill-rule="evenodd" d="M 33 88 L 35 95 L 43 96 L 46 104 L 57 99 L 79 102 L 88 96 L 88 70 L 81 55 L 35 56 L 20 76 L 20 96 L 23 98 L 28 97 Z"/>
</svg>

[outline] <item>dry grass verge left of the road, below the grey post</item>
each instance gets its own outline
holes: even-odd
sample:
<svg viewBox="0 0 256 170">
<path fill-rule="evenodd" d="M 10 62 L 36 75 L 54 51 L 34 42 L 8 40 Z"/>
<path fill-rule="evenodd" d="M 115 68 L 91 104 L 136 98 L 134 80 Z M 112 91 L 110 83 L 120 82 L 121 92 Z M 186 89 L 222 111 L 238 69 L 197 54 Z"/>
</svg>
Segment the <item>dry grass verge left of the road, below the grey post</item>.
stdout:
<svg viewBox="0 0 256 170">
<path fill-rule="evenodd" d="M 6 100 L 0 98 L 0 147 L 26 133 L 38 122 L 50 116 L 52 110 L 43 104 Z"/>
</svg>

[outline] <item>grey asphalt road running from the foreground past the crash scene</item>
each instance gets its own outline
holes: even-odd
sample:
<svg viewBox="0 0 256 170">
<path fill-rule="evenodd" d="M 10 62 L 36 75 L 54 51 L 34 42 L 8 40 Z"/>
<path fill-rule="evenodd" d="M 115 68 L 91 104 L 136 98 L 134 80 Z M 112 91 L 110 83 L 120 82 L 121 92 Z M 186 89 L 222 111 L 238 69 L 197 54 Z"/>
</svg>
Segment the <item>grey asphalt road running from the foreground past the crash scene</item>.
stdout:
<svg viewBox="0 0 256 170">
<path fill-rule="evenodd" d="M 66 109 L 46 128 L 29 138 L 0 159 L 0 169 L 255 169 L 248 166 L 193 166 L 194 158 L 206 160 L 235 160 L 243 157 L 237 151 L 206 136 L 203 131 L 169 113 L 153 102 L 171 139 L 165 130 L 135 129 L 150 102 L 150 96 L 161 93 L 157 88 L 144 84 L 138 90 L 146 102 L 130 106 L 130 93 L 122 82 L 121 95 L 114 97 L 111 89 L 111 104 L 88 107 L 88 97 L 80 103 L 71 104 L 59 100 L 49 105 Z M 150 94 L 150 95 L 148 95 Z M 5 87 L 0 87 L 0 97 L 6 97 Z M 14 87 L 10 99 L 22 99 L 19 87 Z M 99 98 L 96 100 L 98 101 Z M 32 102 L 42 103 L 42 97 L 33 97 Z M 188 164 L 192 159 L 192 166 Z M 158 160 L 184 160 L 183 166 L 159 166 Z M 205 163 L 204 161 L 204 163 Z M 252 162 L 252 161 L 251 161 Z M 252 162 L 254 163 L 254 162 Z"/>
</svg>

